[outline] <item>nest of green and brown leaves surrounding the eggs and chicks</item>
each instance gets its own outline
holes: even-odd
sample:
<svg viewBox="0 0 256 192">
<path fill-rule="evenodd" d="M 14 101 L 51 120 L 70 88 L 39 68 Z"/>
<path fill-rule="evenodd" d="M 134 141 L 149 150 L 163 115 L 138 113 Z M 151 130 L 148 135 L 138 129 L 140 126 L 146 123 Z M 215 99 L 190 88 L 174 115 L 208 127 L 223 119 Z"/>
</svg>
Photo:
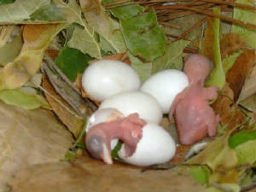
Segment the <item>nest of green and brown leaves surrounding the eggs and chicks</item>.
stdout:
<svg viewBox="0 0 256 192">
<path fill-rule="evenodd" d="M 189 53 L 206 55 L 214 65 L 206 85 L 217 85 L 221 90 L 212 103 L 221 118 L 218 135 L 206 138 L 207 147 L 189 159 L 186 154 L 192 146 L 179 145 L 171 162 L 144 169 L 149 176 L 139 176 L 145 178 L 138 183 L 147 181 L 148 188 L 126 186 L 128 179 L 110 189 L 122 189 L 122 184 L 125 191 L 159 191 L 154 188 L 159 184 L 154 183 L 156 177 L 162 174 L 169 180 L 171 174 L 180 179 L 175 182 L 183 183 L 187 178 L 177 176 L 180 172 L 187 172 L 201 187 L 194 189 L 195 183 L 188 181 L 187 189 L 172 188 L 169 186 L 175 182 L 164 180 L 162 189 L 239 192 L 255 188 L 255 1 L 32 2 L 0 0 L 0 191 L 39 191 L 38 183 L 51 186 L 44 191 L 107 191 L 105 180 L 102 185 L 106 188 L 87 183 L 80 189 L 74 180 L 67 181 L 75 187 L 65 188 L 66 178 L 60 178 L 62 187 L 53 188 L 51 183 L 60 182 L 57 177 L 61 174 L 55 169 L 67 175 L 81 174 L 85 180 L 97 180 L 105 169 L 86 155 L 84 125 L 99 103 L 82 90 L 81 73 L 90 62 L 108 58 L 125 61 L 145 81 L 163 69 L 182 70 L 183 57 Z M 161 125 L 175 137 L 174 122 L 164 118 Z M 22 153 L 17 146 L 23 148 Z M 113 151 L 113 158 L 116 155 Z M 83 158 L 85 163 L 80 162 Z M 36 164 L 39 166 L 33 166 Z M 91 170 L 92 166 L 98 170 Z M 79 171 L 74 171 L 78 167 Z M 50 179 L 45 179 L 44 169 Z M 128 178 L 134 174 L 132 169 L 136 168 L 120 164 L 108 171 Z M 168 171 L 156 173 L 152 169 Z M 143 174 L 140 171 L 136 174 Z M 41 172 L 44 179 L 33 182 L 34 172 Z M 136 174 L 131 183 L 137 183 Z M 154 179 L 148 182 L 149 177 Z"/>
</svg>

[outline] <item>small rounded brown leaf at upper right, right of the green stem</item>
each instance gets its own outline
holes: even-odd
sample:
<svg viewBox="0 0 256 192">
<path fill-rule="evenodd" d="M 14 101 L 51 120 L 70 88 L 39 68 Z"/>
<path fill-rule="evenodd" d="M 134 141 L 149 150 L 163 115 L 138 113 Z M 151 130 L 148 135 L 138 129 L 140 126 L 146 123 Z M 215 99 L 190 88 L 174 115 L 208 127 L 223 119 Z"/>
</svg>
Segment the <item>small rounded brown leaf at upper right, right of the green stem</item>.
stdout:
<svg viewBox="0 0 256 192">
<path fill-rule="evenodd" d="M 247 48 L 247 41 L 235 33 L 224 34 L 220 41 L 221 58 L 236 53 L 239 49 Z"/>
</svg>

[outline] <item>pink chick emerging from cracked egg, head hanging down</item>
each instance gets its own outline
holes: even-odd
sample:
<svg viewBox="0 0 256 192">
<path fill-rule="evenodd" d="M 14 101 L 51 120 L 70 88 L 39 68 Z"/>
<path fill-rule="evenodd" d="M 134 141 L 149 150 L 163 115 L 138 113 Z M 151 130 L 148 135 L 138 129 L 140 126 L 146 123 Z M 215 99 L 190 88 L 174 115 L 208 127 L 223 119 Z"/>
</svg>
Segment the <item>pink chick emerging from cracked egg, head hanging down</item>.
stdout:
<svg viewBox="0 0 256 192">
<path fill-rule="evenodd" d="M 118 138 L 125 144 L 125 155 L 131 156 L 137 148 L 137 143 L 143 137 L 143 126 L 146 122 L 139 118 L 138 113 L 112 122 L 97 124 L 87 132 L 86 147 L 97 159 L 112 164 L 111 140 Z"/>
</svg>

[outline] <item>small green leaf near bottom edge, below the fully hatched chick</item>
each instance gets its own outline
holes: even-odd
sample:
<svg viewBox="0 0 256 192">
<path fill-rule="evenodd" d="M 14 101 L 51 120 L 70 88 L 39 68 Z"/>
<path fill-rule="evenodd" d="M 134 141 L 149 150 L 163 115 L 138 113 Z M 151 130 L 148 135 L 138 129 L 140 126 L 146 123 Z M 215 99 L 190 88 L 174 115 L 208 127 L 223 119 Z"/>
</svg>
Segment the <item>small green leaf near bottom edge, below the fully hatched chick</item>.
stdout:
<svg viewBox="0 0 256 192">
<path fill-rule="evenodd" d="M 194 178 L 195 181 L 204 185 L 207 183 L 210 171 L 206 166 L 189 166 L 189 176 Z"/>
</svg>

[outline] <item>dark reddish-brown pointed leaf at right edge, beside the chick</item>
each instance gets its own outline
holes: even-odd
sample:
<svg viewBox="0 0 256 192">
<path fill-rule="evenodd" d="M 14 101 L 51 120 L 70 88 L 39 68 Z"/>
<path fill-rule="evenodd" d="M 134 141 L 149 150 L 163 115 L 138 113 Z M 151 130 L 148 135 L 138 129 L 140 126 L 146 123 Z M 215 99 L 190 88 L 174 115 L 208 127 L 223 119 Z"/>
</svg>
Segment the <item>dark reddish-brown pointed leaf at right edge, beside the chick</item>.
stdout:
<svg viewBox="0 0 256 192">
<path fill-rule="evenodd" d="M 247 49 L 237 57 L 234 65 L 226 73 L 226 82 L 234 92 L 235 102 L 241 93 L 242 86 L 247 78 L 248 72 L 253 67 L 253 63 L 255 63 L 254 50 Z"/>
</svg>

